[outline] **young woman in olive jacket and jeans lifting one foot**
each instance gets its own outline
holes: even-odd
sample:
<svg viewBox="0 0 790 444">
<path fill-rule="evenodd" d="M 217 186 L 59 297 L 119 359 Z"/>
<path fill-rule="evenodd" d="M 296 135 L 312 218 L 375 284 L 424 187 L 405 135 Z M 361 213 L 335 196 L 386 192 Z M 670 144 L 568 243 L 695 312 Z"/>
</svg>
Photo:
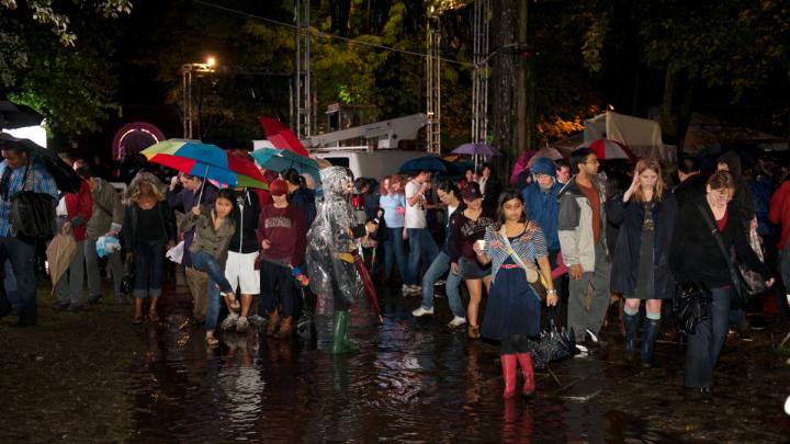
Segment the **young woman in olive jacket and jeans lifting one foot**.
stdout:
<svg viewBox="0 0 790 444">
<path fill-rule="evenodd" d="M 184 219 L 182 230 L 188 231 L 195 228 L 195 236 L 190 252 L 192 253 L 192 266 L 208 274 L 208 307 L 206 309 L 206 345 L 216 346 L 219 344 L 214 338 L 217 317 L 219 316 L 219 295 L 225 296 L 230 312 L 238 310 L 238 301 L 227 277 L 225 277 L 225 262 L 228 255 L 228 246 L 234 232 L 236 221 L 236 196 L 230 189 L 219 190 L 211 205 L 201 205 L 192 208 Z M 217 293 L 217 286 L 221 293 Z"/>
</svg>

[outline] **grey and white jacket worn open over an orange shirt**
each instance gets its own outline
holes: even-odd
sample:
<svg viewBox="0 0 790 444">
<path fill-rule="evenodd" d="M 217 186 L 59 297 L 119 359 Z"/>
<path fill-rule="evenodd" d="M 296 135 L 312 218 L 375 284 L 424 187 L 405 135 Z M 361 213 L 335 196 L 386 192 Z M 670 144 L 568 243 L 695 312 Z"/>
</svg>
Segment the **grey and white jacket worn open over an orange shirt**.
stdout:
<svg viewBox="0 0 790 444">
<path fill-rule="evenodd" d="M 598 190 L 600 198 L 600 220 L 592 220 L 592 207 L 576 184 L 576 177 L 568 181 L 558 195 L 557 231 L 563 262 L 568 265 L 578 263 L 585 272 L 595 271 L 596 257 L 592 224 L 600 224 L 600 232 L 606 232 L 606 209 L 603 205 L 606 197 L 600 192 L 600 187 L 595 180 L 592 185 Z M 606 248 L 606 242 L 603 242 L 603 247 Z"/>
</svg>

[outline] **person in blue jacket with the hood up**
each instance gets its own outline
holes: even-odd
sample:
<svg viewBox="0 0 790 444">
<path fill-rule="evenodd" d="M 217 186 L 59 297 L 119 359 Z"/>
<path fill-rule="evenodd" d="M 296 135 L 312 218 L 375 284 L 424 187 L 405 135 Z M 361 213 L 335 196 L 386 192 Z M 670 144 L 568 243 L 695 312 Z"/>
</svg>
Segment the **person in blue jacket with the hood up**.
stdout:
<svg viewBox="0 0 790 444">
<path fill-rule="evenodd" d="M 560 201 L 557 196 L 563 187 L 562 183 L 556 180 L 556 166 L 551 159 L 537 159 L 530 169 L 533 179 L 532 183 L 521 191 L 527 217 L 538 223 L 546 238 L 549 262 L 552 269 L 557 266 L 557 254 L 560 253 L 560 236 L 557 231 Z M 554 280 L 554 288 L 557 289 L 560 295 L 563 295 L 565 289 L 562 284 L 562 276 Z M 557 326 L 560 323 L 560 303 L 557 303 L 557 307 L 554 307 L 552 314 L 552 318 Z"/>
</svg>

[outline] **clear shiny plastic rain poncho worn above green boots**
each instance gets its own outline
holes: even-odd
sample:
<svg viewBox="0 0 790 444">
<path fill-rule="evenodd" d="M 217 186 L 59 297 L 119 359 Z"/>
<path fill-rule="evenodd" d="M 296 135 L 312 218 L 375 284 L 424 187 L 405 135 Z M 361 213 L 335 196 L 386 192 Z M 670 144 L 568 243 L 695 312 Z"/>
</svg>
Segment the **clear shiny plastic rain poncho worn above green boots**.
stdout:
<svg viewBox="0 0 790 444">
<path fill-rule="evenodd" d="M 307 231 L 305 262 L 311 289 L 323 299 L 319 311 L 328 312 L 334 303 L 332 282 L 341 297 L 351 304 L 363 296 L 364 286 L 353 263 L 338 253 L 354 253 L 359 243 L 349 235 L 356 225 L 348 196 L 353 192 L 353 173 L 348 168 L 330 167 L 320 171 L 324 202 Z"/>
</svg>

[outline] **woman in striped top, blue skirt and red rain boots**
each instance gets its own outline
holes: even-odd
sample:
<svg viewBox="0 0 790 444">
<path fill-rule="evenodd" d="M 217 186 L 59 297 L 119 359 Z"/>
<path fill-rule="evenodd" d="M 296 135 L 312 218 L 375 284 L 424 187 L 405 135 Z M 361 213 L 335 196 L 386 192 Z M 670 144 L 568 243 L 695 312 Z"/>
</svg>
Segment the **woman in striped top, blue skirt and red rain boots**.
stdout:
<svg viewBox="0 0 790 444">
<path fill-rule="evenodd" d="M 486 227 L 484 242 L 485 247 L 479 241 L 474 246 L 478 261 L 493 263 L 482 333 L 501 341 L 503 397 L 509 399 L 516 395 L 517 361 L 524 378 L 523 396 L 530 397 L 534 394 L 534 375 L 528 338 L 539 334 L 541 300 L 527 275 L 538 276 L 535 260 L 546 284 L 549 306 L 556 305 L 557 294 L 552 284 L 543 231 L 527 220 L 523 196 L 518 190 L 508 189 L 499 196 L 497 224 Z"/>
</svg>

